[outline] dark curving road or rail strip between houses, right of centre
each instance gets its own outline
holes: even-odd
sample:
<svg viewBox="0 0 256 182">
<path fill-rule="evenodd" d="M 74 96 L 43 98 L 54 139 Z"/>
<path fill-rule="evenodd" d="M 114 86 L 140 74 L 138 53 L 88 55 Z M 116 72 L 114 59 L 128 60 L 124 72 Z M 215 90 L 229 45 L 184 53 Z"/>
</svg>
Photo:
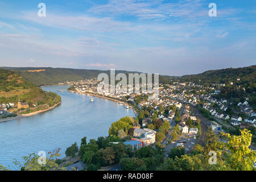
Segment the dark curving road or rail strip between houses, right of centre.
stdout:
<svg viewBox="0 0 256 182">
<path fill-rule="evenodd" d="M 200 122 L 200 125 L 201 125 L 201 135 L 199 137 L 199 139 L 197 140 L 196 144 L 200 144 L 201 146 L 204 145 L 204 142 L 205 142 L 205 138 L 206 138 L 206 133 L 207 133 L 207 122 L 208 119 L 205 118 L 203 115 L 201 115 L 199 113 L 199 111 L 196 109 L 195 106 L 192 106 L 192 110 L 193 110 L 193 113 L 196 115 L 197 118 L 200 118 L 201 122 Z"/>
</svg>

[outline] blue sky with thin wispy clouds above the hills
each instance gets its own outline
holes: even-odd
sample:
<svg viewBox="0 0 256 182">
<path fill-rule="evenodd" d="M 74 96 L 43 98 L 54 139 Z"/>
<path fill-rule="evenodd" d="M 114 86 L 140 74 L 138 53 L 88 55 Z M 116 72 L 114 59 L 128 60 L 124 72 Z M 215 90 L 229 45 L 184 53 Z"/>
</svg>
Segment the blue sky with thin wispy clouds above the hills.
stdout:
<svg viewBox="0 0 256 182">
<path fill-rule="evenodd" d="M 255 65 L 255 50 L 255 0 L 0 1 L 0 67 L 182 76 Z"/>
</svg>

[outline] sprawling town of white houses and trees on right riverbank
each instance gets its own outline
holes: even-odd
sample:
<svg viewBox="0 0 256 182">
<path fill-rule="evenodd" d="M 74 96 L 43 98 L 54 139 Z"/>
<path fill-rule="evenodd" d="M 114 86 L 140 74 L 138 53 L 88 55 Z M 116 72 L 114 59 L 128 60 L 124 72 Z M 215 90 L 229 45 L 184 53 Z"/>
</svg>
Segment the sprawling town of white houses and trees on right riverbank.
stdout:
<svg viewBox="0 0 256 182">
<path fill-rule="evenodd" d="M 123 131 L 118 131 L 117 135 L 126 139 L 124 144 L 130 144 L 133 151 L 158 145 L 166 151 L 166 156 L 174 147 L 184 147 L 185 151 L 191 152 L 195 144 L 204 143 L 209 128 L 221 140 L 220 133 L 233 134 L 239 129 L 254 130 L 256 127 L 256 112 L 249 105 L 249 98 L 241 97 L 238 101 L 219 98 L 225 84 L 204 86 L 179 81 L 160 84 L 159 97 L 149 100 L 150 93 L 98 93 L 98 82 L 96 78 L 72 82 L 69 91 L 129 104 L 137 113 L 133 129 L 128 132 L 132 134 L 131 138 L 127 140 L 127 135 L 122 135 Z M 254 144 L 255 136 L 250 146 L 255 149 Z"/>
</svg>

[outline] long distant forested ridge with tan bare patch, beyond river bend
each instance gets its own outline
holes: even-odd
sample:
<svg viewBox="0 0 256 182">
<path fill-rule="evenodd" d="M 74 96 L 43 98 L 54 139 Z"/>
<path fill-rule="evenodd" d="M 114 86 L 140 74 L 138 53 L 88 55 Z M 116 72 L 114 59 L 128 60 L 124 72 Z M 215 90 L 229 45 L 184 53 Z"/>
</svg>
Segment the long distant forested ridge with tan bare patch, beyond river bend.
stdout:
<svg viewBox="0 0 256 182">
<path fill-rule="evenodd" d="M 65 81 L 79 81 L 86 78 L 95 78 L 100 73 L 107 73 L 110 75 L 110 71 L 100 71 L 95 69 L 71 69 L 71 68 L 11 68 L 2 67 L 3 69 L 9 69 L 18 73 L 20 76 L 26 78 L 26 80 L 32 82 L 36 86 L 59 84 Z M 118 73 L 139 73 L 130 71 L 115 71 Z M 159 82 L 168 83 L 170 81 L 169 76 L 159 76 Z"/>
</svg>

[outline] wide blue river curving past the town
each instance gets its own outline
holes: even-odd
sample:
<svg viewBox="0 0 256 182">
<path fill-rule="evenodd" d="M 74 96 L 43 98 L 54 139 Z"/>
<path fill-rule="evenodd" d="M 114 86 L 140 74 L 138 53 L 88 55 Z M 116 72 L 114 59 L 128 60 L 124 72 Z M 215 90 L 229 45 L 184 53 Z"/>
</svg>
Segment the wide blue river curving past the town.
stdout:
<svg viewBox="0 0 256 182">
<path fill-rule="evenodd" d="M 106 137 L 111 123 L 126 115 L 135 116 L 124 105 L 98 97 L 90 102 L 90 96 L 67 92 L 68 87 L 43 88 L 61 96 L 61 105 L 52 110 L 0 123 L 0 164 L 19 169 L 13 164 L 14 159 L 23 162 L 22 156 L 56 148 L 61 148 L 60 158 L 64 158 L 65 149 L 75 142 L 79 145 L 81 138 L 89 141 Z"/>
</svg>

